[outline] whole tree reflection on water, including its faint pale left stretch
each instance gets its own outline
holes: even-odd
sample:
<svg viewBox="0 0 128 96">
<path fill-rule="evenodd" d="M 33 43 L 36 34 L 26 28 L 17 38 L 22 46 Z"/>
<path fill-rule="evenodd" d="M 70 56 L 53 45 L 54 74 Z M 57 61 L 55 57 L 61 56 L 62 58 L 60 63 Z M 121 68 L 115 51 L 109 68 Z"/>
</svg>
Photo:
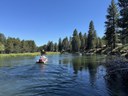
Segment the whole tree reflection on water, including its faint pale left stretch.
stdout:
<svg viewBox="0 0 128 96">
<path fill-rule="evenodd" d="M 91 86 L 95 85 L 97 79 L 97 68 L 103 61 L 103 58 L 99 56 L 75 56 L 71 58 L 65 58 L 59 60 L 60 64 L 70 64 L 73 68 L 73 73 L 78 74 L 79 72 L 88 70 L 89 81 Z"/>
</svg>

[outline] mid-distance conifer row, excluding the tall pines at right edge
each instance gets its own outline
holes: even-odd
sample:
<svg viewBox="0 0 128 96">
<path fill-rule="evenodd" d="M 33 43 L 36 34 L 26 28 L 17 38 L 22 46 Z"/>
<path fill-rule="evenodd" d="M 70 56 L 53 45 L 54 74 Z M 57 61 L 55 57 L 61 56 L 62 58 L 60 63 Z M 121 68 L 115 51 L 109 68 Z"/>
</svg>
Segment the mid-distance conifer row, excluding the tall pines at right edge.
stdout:
<svg viewBox="0 0 128 96">
<path fill-rule="evenodd" d="M 104 44 L 104 38 L 97 36 L 94 23 L 91 21 L 89 24 L 88 34 L 82 34 L 82 32 L 78 32 L 77 29 L 74 29 L 73 35 L 69 38 L 59 38 L 58 44 L 49 41 L 47 44 L 41 46 L 40 49 L 59 52 L 83 52 L 89 49 L 102 48 Z"/>
</svg>

